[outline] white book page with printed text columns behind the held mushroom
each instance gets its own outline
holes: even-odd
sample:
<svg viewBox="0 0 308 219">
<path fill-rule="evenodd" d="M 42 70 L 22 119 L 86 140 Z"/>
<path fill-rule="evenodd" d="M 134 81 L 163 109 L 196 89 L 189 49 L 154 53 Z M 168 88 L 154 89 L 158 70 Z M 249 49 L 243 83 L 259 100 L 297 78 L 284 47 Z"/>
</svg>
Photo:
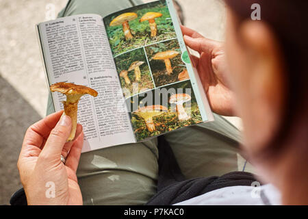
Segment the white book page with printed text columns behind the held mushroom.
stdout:
<svg viewBox="0 0 308 219">
<path fill-rule="evenodd" d="M 78 104 L 78 123 L 84 127 L 83 152 L 136 142 L 102 18 L 82 14 L 38 25 L 49 85 L 69 82 L 97 90 Z M 55 110 L 66 96 L 53 92 Z"/>
</svg>

